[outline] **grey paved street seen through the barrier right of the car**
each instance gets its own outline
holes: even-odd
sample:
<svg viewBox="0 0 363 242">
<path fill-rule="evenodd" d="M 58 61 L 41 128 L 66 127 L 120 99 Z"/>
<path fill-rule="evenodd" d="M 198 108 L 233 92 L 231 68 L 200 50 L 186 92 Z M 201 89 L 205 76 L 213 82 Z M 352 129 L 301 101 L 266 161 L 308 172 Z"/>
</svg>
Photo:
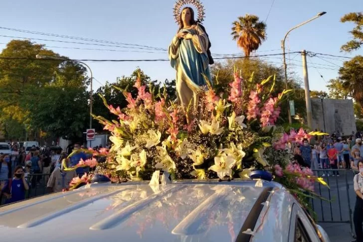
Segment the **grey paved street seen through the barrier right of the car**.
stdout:
<svg viewBox="0 0 363 242">
<path fill-rule="evenodd" d="M 332 200 L 331 203 L 318 199 L 313 201 L 314 210 L 318 216 L 318 224 L 326 230 L 332 242 L 350 242 L 353 240 L 349 211 L 351 208 L 353 220 L 356 201 L 353 178 L 354 174 L 352 171 L 341 171 L 340 177 L 325 177 L 324 180 L 329 184 L 330 190 L 324 186 L 320 186 L 319 189 L 319 185 L 315 188 L 317 194 Z M 348 182 L 348 187 L 346 181 Z M 351 205 L 350 208 L 349 204 Z"/>
</svg>

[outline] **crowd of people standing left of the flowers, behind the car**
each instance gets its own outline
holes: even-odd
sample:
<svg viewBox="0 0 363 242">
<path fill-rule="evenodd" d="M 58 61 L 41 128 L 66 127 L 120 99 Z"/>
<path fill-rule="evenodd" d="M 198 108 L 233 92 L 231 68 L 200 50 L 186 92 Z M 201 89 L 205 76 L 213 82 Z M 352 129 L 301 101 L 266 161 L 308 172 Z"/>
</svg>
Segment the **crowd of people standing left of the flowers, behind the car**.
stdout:
<svg viewBox="0 0 363 242">
<path fill-rule="evenodd" d="M 0 154 L 0 204 L 1 201 L 8 204 L 24 200 L 26 191 L 40 186 L 45 186 L 48 193 L 67 190 L 73 178 L 89 172 L 87 167 L 65 171 L 62 165 L 64 159 L 67 167 L 77 165 L 81 159 L 89 159 L 90 155 L 84 152 L 66 159 L 72 151 L 82 148 L 85 147 L 74 144 L 62 152 L 61 149 L 33 146 L 26 154 L 24 148 L 17 151 L 17 148 L 12 147 L 16 154 Z M 95 147 L 94 150 L 101 148 Z"/>
</svg>

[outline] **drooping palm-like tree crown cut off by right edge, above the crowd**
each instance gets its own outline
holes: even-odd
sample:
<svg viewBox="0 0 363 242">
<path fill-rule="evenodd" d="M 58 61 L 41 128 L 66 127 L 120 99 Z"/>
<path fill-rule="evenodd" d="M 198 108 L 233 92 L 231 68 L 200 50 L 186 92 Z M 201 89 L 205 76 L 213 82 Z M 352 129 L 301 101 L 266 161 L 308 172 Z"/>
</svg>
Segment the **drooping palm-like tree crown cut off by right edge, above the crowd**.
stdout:
<svg viewBox="0 0 363 242">
<path fill-rule="evenodd" d="M 339 69 L 339 78 L 343 81 L 344 90 L 363 106 L 363 56 L 345 61 Z"/>
</svg>

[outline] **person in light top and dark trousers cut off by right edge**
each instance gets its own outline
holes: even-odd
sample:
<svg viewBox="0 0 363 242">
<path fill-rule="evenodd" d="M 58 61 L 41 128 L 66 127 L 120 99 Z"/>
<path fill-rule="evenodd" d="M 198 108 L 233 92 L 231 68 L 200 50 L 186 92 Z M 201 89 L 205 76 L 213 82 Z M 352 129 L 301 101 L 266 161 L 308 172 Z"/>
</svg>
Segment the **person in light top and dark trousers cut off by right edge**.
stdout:
<svg viewBox="0 0 363 242">
<path fill-rule="evenodd" d="M 360 173 L 354 176 L 354 191 L 357 194 L 356 206 L 354 208 L 354 229 L 356 231 L 357 242 L 363 242 L 363 161 L 358 162 Z"/>
</svg>

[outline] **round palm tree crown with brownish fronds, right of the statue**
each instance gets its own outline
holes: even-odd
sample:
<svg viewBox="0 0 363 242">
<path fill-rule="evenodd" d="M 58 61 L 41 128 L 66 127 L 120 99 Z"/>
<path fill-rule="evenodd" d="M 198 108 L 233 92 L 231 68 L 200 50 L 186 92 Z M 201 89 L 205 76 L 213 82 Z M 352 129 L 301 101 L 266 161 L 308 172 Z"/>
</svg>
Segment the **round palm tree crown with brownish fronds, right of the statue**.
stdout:
<svg viewBox="0 0 363 242">
<path fill-rule="evenodd" d="M 238 21 L 232 24 L 232 38 L 237 41 L 237 46 L 243 49 L 247 57 L 266 40 L 266 23 L 259 21 L 256 15 L 239 16 Z"/>
</svg>

